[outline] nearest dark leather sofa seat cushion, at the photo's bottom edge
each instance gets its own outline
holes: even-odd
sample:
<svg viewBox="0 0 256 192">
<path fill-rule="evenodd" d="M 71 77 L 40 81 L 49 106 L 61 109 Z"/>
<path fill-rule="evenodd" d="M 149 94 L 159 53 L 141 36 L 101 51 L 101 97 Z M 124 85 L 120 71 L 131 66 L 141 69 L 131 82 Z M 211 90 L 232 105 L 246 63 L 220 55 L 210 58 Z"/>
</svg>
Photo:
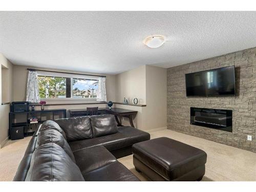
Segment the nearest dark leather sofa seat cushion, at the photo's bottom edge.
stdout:
<svg viewBox="0 0 256 192">
<path fill-rule="evenodd" d="M 83 178 L 86 181 L 140 181 L 129 169 L 118 161 L 84 174 Z"/>
</svg>

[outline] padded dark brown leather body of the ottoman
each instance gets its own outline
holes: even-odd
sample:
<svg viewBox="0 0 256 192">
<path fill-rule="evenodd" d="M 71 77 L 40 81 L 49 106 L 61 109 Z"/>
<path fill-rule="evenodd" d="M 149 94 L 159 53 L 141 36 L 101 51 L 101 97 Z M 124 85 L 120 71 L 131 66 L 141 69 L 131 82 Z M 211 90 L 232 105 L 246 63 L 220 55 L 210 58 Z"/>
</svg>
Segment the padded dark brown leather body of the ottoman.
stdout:
<svg viewBox="0 0 256 192">
<path fill-rule="evenodd" d="M 167 137 L 136 143 L 132 149 L 134 158 L 166 180 L 175 180 L 204 166 L 207 159 L 206 153 L 199 148 Z"/>
</svg>

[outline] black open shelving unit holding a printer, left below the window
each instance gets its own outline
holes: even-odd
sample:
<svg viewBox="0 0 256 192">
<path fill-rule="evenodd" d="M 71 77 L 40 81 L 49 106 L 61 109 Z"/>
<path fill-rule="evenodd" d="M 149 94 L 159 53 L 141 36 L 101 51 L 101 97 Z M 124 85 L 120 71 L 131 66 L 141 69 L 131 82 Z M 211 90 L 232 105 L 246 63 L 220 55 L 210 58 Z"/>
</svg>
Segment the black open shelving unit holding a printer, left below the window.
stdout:
<svg viewBox="0 0 256 192">
<path fill-rule="evenodd" d="M 9 113 L 9 138 L 11 139 L 12 127 L 24 126 L 24 137 L 31 136 L 31 135 L 34 134 L 38 124 L 41 124 L 46 120 L 54 120 L 55 119 L 54 115 L 56 116 L 56 114 L 59 115 L 60 113 L 61 113 L 61 116 L 62 116 L 61 118 L 66 118 L 67 117 L 66 109 L 53 109 L 53 110 L 44 110 L 44 111 L 35 110 L 35 111 L 10 112 Z M 16 115 L 24 115 L 25 117 L 20 118 L 22 120 L 22 122 L 14 122 L 14 120 L 16 119 Z M 46 117 L 46 115 L 50 115 L 50 116 L 52 116 L 52 118 L 48 118 L 48 119 L 46 118 L 45 120 L 42 120 L 42 117 Z M 31 124 L 29 122 L 30 117 L 37 117 L 38 123 Z M 34 126 L 34 130 L 33 130 L 32 126 Z"/>
</svg>

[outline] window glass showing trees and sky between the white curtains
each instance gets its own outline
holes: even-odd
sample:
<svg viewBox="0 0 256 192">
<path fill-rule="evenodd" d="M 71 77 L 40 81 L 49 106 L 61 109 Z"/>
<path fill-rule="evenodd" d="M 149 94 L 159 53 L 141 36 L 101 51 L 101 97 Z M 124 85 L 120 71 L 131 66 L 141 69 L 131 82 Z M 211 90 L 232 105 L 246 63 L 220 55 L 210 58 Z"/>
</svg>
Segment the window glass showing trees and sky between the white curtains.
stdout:
<svg viewBox="0 0 256 192">
<path fill-rule="evenodd" d="M 40 98 L 97 98 L 98 79 L 38 75 Z"/>
</svg>

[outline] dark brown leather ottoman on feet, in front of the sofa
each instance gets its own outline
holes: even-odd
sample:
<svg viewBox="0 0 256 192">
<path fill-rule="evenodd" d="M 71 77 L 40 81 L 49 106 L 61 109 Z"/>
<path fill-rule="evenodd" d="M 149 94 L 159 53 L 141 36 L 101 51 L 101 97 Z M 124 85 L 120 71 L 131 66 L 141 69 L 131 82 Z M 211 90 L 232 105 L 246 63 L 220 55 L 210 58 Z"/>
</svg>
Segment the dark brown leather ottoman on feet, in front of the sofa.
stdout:
<svg viewBox="0 0 256 192">
<path fill-rule="evenodd" d="M 200 181 L 207 155 L 199 148 L 160 137 L 132 146 L 133 164 L 152 181 Z"/>
</svg>

